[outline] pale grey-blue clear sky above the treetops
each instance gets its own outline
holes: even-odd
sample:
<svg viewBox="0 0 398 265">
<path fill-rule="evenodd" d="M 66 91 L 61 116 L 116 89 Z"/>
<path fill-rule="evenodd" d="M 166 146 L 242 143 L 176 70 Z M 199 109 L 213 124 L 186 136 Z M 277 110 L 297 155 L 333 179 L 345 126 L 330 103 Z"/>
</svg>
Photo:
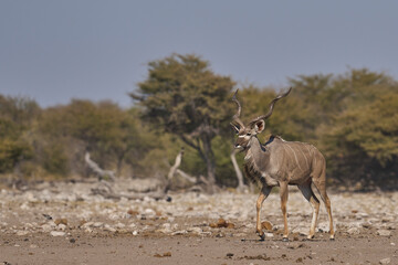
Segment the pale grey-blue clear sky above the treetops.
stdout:
<svg viewBox="0 0 398 265">
<path fill-rule="evenodd" d="M 348 67 L 398 78 L 398 1 L 1 0 L 0 94 L 43 107 L 132 104 L 147 63 L 196 53 L 216 73 L 283 87 Z"/>
</svg>

